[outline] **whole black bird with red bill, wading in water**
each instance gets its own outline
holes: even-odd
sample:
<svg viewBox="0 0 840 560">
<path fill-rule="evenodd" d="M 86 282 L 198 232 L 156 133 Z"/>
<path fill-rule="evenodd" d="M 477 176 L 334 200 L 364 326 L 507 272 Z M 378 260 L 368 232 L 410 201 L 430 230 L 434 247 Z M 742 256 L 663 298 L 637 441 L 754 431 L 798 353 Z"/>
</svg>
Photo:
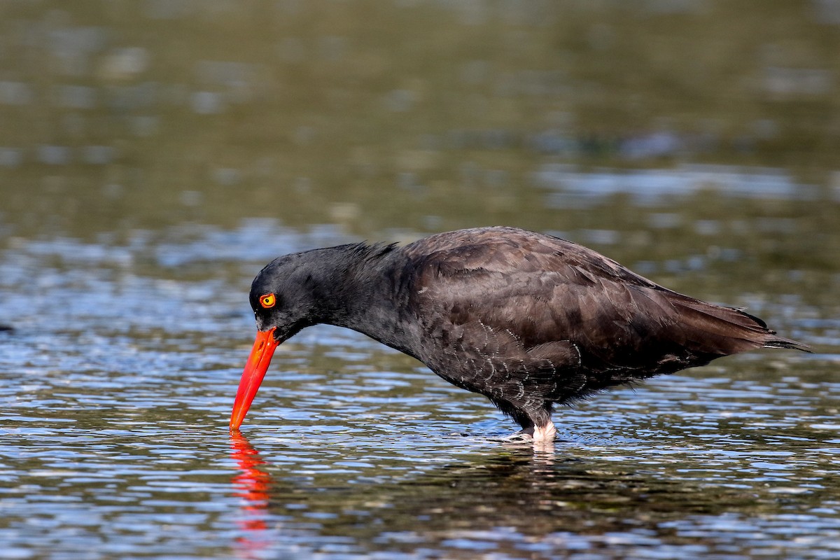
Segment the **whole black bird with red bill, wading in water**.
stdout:
<svg viewBox="0 0 840 560">
<path fill-rule="evenodd" d="M 250 301 L 258 332 L 231 430 L 277 345 L 317 323 L 363 332 L 485 395 L 535 442 L 554 438 L 555 403 L 753 348 L 808 349 L 739 309 L 516 228 L 289 254 L 260 271 Z"/>
</svg>

